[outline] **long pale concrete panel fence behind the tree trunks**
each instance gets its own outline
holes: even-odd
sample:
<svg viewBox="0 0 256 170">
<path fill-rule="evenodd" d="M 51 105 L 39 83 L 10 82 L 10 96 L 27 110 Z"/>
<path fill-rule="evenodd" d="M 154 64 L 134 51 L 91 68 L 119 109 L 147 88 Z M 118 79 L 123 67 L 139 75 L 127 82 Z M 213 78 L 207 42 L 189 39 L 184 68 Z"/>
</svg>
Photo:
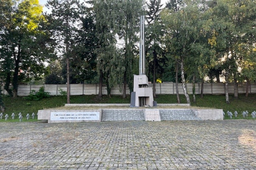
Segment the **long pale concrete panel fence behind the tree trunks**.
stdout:
<svg viewBox="0 0 256 170">
<path fill-rule="evenodd" d="M 234 85 L 233 83 L 228 84 L 229 94 L 234 94 Z M 44 85 L 19 85 L 18 87 L 18 96 L 27 96 L 29 95 L 30 90 L 38 91 L 40 87 L 44 86 L 45 91 L 49 92 L 51 96 L 60 95 L 59 90 L 67 91 L 66 84 L 44 84 Z M 153 84 L 149 84 L 149 87 L 153 87 Z M 201 84 L 196 83 L 196 94 L 201 93 Z M 7 94 L 7 91 L 3 90 L 2 93 Z M 183 93 L 182 84 L 178 83 L 179 94 Z M 192 94 L 192 83 L 187 83 L 187 91 L 189 94 Z M 107 94 L 106 86 L 102 87 L 103 95 Z M 238 93 L 246 93 L 246 83 L 239 84 Z M 256 93 L 256 84 L 251 84 L 249 86 L 249 93 Z M 97 95 L 99 94 L 99 84 L 70 84 L 70 95 Z M 123 85 L 113 87 L 111 90 L 112 95 L 122 95 L 123 94 Z M 130 94 L 130 90 L 126 87 L 126 94 Z M 169 83 L 157 83 L 156 84 L 156 94 L 176 94 L 176 84 Z M 225 94 L 224 84 L 223 83 L 204 83 L 204 94 Z"/>
</svg>

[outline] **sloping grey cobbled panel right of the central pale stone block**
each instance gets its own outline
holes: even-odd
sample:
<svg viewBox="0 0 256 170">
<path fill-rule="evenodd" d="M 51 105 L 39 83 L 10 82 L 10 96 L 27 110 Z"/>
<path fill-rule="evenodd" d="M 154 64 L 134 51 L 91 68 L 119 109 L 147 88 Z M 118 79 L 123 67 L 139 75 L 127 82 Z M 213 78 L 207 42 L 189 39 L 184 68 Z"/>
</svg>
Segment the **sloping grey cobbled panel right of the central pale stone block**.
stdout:
<svg viewBox="0 0 256 170">
<path fill-rule="evenodd" d="M 159 109 L 161 121 L 169 120 L 202 120 L 191 109 Z"/>
</svg>

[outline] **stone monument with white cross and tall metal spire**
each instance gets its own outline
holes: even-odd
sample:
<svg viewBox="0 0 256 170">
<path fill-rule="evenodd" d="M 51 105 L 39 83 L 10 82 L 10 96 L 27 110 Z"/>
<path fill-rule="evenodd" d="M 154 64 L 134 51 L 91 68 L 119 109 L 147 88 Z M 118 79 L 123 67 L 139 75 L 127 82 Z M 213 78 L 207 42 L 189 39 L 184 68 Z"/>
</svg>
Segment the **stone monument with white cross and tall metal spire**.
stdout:
<svg viewBox="0 0 256 170">
<path fill-rule="evenodd" d="M 131 93 L 130 107 L 156 106 L 153 101 L 153 91 L 148 87 L 148 78 L 146 72 L 145 57 L 145 38 L 144 38 L 144 20 L 145 16 L 140 18 L 140 62 L 139 75 L 133 76 L 133 92 Z"/>
</svg>

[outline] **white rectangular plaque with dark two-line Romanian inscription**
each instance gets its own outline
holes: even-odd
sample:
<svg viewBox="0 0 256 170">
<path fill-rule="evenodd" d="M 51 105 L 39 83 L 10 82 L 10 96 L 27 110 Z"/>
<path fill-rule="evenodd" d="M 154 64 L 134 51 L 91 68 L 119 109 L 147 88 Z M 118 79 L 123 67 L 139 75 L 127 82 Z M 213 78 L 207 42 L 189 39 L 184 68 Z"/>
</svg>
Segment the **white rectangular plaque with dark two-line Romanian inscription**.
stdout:
<svg viewBox="0 0 256 170">
<path fill-rule="evenodd" d="M 51 121 L 99 121 L 100 112 L 51 112 Z"/>
</svg>

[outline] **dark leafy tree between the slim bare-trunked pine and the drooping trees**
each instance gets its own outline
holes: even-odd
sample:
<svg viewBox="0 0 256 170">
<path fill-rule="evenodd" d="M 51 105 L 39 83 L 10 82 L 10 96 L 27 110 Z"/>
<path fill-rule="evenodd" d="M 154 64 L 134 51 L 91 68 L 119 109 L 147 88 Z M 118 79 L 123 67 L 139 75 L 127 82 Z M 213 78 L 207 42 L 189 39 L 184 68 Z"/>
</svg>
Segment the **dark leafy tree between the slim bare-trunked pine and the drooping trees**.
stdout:
<svg viewBox="0 0 256 170">
<path fill-rule="evenodd" d="M 78 82 L 94 83 L 97 77 L 97 49 L 98 38 L 96 37 L 95 13 L 93 8 L 82 10 L 82 27 L 79 36 L 76 37 L 78 57 L 71 61 L 71 67 L 76 69 L 75 75 Z"/>
</svg>

